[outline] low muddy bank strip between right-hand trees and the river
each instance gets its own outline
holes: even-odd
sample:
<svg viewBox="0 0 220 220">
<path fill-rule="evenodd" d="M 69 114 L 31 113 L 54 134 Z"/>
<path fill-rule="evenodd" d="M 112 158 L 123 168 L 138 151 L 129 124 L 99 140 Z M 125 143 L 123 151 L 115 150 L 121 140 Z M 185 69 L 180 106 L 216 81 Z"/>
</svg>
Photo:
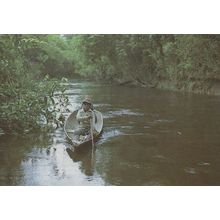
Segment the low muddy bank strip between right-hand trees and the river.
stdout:
<svg viewBox="0 0 220 220">
<path fill-rule="evenodd" d="M 139 79 L 117 80 L 121 86 L 158 88 L 171 91 L 192 92 L 197 94 L 220 95 L 220 80 L 190 79 L 188 81 L 171 81 L 162 79 L 155 82 L 141 81 Z"/>
</svg>

